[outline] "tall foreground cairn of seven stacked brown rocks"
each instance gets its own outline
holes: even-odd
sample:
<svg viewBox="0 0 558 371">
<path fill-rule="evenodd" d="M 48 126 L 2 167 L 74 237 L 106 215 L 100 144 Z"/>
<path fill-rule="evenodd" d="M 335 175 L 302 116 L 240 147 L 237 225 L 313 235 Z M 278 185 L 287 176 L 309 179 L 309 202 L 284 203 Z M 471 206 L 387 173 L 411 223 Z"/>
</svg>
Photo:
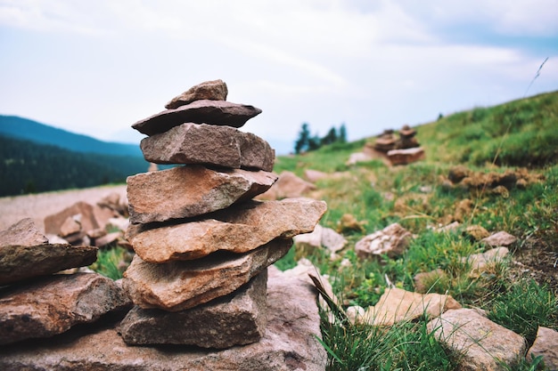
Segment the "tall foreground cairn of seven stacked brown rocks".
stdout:
<svg viewBox="0 0 558 371">
<path fill-rule="evenodd" d="M 258 342 L 267 267 L 316 227 L 324 201 L 258 201 L 277 180 L 275 150 L 238 130 L 261 113 L 226 101 L 221 80 L 195 85 L 132 127 L 147 161 L 176 165 L 127 178 L 135 257 L 122 286 L 134 308 L 128 344 L 225 349 Z"/>
</svg>

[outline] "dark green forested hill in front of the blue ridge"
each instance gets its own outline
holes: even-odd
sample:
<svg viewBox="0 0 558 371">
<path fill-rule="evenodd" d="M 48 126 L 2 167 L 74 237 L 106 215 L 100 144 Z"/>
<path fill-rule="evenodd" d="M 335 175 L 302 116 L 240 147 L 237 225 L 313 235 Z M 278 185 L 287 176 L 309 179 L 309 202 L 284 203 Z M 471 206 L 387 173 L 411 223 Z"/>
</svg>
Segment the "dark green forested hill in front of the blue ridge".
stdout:
<svg viewBox="0 0 558 371">
<path fill-rule="evenodd" d="M 0 197 L 124 183 L 148 166 L 141 156 L 78 153 L 0 134 Z"/>
</svg>

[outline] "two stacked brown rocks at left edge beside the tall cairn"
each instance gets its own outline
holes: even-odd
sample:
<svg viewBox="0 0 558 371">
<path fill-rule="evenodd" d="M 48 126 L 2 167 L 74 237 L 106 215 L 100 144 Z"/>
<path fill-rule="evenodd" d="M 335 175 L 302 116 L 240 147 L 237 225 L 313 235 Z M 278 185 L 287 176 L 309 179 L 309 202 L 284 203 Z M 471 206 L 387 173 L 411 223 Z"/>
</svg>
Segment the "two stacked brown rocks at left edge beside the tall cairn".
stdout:
<svg viewBox="0 0 558 371">
<path fill-rule="evenodd" d="M 130 300 L 110 278 L 53 274 L 89 265 L 96 254 L 95 246 L 50 243 L 30 218 L 0 232 L 0 344 L 51 337 L 128 310 Z"/>
</svg>

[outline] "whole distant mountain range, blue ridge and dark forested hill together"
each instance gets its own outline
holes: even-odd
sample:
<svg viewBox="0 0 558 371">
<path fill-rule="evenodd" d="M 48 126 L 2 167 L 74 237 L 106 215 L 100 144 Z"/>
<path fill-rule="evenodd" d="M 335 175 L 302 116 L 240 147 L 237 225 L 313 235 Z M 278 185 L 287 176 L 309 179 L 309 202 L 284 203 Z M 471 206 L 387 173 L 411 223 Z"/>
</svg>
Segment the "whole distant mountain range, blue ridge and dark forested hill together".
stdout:
<svg viewBox="0 0 558 371">
<path fill-rule="evenodd" d="M 0 116 L 0 197 L 124 183 L 148 167 L 139 145 Z"/>
</svg>

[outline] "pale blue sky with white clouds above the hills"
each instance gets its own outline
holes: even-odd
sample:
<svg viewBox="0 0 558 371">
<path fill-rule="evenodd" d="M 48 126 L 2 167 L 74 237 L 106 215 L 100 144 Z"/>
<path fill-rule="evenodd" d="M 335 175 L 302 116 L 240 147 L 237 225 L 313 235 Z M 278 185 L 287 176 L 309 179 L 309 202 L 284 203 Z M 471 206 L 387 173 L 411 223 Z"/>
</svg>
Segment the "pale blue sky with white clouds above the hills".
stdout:
<svg viewBox="0 0 558 371">
<path fill-rule="evenodd" d="M 558 90 L 558 0 L 0 0 L 0 115 L 139 144 L 215 79 L 277 154 L 354 141 Z"/>
</svg>

